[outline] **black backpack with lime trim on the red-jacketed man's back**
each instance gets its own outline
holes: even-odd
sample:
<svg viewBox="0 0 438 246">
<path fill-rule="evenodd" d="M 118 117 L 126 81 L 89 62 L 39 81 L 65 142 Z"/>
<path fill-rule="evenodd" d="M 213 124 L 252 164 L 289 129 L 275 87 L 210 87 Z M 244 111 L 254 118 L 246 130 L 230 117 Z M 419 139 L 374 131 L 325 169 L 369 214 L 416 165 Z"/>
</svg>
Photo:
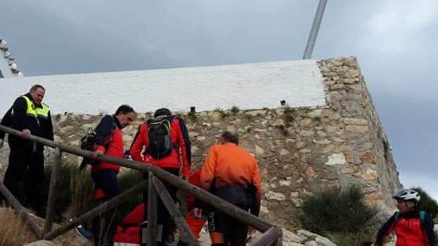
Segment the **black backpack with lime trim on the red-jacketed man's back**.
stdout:
<svg viewBox="0 0 438 246">
<path fill-rule="evenodd" d="M 175 116 L 162 116 L 146 121 L 149 140 L 146 153 L 160 159 L 172 153 L 174 144 L 171 138 L 172 122 Z"/>
</svg>

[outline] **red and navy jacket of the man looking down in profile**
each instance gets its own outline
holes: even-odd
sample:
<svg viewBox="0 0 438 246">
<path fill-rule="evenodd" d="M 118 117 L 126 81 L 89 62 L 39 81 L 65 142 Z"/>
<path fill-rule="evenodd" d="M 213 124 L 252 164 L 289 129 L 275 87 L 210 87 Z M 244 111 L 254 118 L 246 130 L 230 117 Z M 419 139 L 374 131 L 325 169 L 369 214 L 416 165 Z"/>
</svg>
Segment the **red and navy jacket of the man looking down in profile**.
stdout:
<svg viewBox="0 0 438 246">
<path fill-rule="evenodd" d="M 95 150 L 100 150 L 105 153 L 105 155 L 116 158 L 123 158 L 123 138 L 121 132 L 120 123 L 117 117 L 106 115 L 102 118 L 99 125 L 96 127 L 96 145 Z M 105 148 L 108 138 L 112 138 L 109 142 L 107 148 Z M 111 164 L 107 162 L 101 162 L 99 164 L 93 165 L 91 171 L 96 171 L 99 169 L 113 169 L 116 172 L 120 171 L 120 166 L 116 164 Z"/>
</svg>

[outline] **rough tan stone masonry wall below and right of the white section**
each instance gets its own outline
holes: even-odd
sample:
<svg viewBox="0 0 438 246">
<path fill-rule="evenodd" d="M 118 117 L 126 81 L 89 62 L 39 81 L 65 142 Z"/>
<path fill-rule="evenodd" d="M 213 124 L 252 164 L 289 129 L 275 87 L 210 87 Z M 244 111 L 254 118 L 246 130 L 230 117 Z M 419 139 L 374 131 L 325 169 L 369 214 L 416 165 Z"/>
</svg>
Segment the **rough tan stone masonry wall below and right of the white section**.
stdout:
<svg viewBox="0 0 438 246">
<path fill-rule="evenodd" d="M 400 187 L 388 141 L 355 58 L 322 60 L 319 66 L 326 83 L 326 106 L 245 111 L 236 107 L 180 114 L 189 129 L 194 165 L 202 165 L 222 131 L 239 134 L 240 146 L 259 162 L 262 218 L 287 229 L 297 224 L 303 198 L 325 187 L 358 184 L 369 202 L 386 207 L 392 205 L 391 195 Z M 101 117 L 53 116 L 55 140 L 78 145 Z M 138 125 L 149 117 L 151 113 L 140 113 L 124 129 L 126 148 Z M 7 149 L 0 153 L 3 170 Z M 50 151 L 48 155 L 50 163 Z M 79 162 L 69 155 L 64 159 Z"/>
</svg>

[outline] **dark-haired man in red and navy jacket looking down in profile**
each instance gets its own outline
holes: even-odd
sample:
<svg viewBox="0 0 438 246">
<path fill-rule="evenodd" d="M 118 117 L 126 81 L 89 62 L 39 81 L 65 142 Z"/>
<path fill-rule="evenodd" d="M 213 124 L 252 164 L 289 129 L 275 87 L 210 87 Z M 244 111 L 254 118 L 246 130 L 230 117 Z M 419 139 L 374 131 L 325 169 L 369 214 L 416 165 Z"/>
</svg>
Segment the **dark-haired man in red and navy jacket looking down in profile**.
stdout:
<svg viewBox="0 0 438 246">
<path fill-rule="evenodd" d="M 96 128 L 96 146 L 94 157 L 107 155 L 110 157 L 123 158 L 122 129 L 130 125 L 135 119 L 134 109 L 128 105 L 121 105 L 114 115 L 106 115 Z M 117 173 L 120 166 L 107 162 L 100 162 L 91 168 L 91 177 L 96 188 L 96 204 L 98 206 L 120 193 Z M 93 219 L 93 235 L 95 246 L 105 246 L 105 235 L 108 234 L 109 220 L 113 211 L 105 215 L 99 215 Z M 108 221 L 106 221 L 106 219 Z M 107 242 L 108 243 L 108 242 Z"/>
</svg>

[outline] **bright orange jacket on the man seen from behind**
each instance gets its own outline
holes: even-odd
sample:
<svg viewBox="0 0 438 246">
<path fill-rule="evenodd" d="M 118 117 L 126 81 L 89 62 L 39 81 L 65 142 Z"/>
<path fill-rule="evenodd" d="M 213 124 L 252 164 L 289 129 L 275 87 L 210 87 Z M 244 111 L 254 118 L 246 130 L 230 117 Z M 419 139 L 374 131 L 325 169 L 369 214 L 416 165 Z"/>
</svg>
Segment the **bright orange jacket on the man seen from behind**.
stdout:
<svg viewBox="0 0 438 246">
<path fill-rule="evenodd" d="M 234 143 L 215 145 L 210 148 L 201 169 L 200 187 L 209 190 L 215 180 L 215 187 L 236 185 L 256 188 L 255 201 L 251 213 L 258 216 L 260 211 L 261 182 L 257 161 L 251 154 Z"/>
</svg>

